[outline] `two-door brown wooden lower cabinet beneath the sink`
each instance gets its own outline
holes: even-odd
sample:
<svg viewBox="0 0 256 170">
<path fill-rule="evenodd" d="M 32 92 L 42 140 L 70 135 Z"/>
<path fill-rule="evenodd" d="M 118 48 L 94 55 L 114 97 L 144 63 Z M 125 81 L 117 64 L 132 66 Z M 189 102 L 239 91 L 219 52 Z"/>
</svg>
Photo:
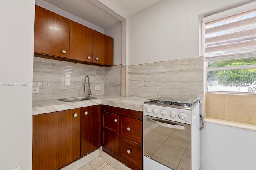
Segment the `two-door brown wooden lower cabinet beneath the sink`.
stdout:
<svg viewBox="0 0 256 170">
<path fill-rule="evenodd" d="M 101 105 L 33 116 L 32 170 L 58 170 L 101 146 Z"/>
</svg>

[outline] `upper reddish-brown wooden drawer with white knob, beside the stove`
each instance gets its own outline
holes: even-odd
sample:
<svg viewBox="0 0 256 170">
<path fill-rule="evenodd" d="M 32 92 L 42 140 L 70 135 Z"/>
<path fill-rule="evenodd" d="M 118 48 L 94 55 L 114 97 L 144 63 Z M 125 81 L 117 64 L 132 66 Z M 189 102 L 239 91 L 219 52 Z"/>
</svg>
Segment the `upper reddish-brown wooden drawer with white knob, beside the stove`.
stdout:
<svg viewBox="0 0 256 170">
<path fill-rule="evenodd" d="M 142 144 L 142 121 L 119 116 L 119 135 Z"/>
</svg>

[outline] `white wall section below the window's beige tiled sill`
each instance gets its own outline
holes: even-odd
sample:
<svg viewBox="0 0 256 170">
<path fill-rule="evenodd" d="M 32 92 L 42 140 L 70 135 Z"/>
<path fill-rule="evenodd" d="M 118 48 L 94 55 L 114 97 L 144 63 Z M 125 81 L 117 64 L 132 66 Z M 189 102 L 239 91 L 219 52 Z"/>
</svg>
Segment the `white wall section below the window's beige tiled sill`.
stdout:
<svg viewBox="0 0 256 170">
<path fill-rule="evenodd" d="M 255 170 L 256 132 L 205 123 L 200 132 L 201 170 Z"/>
</svg>

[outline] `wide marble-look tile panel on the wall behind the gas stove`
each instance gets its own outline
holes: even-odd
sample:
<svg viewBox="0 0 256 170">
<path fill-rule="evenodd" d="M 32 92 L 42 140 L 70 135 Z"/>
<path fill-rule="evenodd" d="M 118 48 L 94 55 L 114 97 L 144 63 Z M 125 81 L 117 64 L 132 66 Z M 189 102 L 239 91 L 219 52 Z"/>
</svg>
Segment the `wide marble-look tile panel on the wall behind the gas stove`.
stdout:
<svg viewBox="0 0 256 170">
<path fill-rule="evenodd" d="M 203 57 L 128 67 L 127 96 L 203 99 Z"/>
</svg>

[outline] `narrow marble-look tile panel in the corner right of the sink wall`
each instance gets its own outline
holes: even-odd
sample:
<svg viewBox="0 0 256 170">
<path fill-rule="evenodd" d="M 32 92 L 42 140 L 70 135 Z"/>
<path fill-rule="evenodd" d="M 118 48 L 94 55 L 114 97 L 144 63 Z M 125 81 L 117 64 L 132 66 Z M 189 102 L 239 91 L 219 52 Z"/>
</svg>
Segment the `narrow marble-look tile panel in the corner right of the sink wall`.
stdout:
<svg viewBox="0 0 256 170">
<path fill-rule="evenodd" d="M 105 67 L 105 95 L 121 96 L 121 65 Z"/>
</svg>

